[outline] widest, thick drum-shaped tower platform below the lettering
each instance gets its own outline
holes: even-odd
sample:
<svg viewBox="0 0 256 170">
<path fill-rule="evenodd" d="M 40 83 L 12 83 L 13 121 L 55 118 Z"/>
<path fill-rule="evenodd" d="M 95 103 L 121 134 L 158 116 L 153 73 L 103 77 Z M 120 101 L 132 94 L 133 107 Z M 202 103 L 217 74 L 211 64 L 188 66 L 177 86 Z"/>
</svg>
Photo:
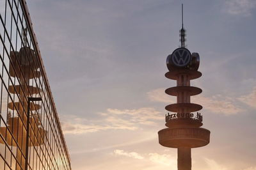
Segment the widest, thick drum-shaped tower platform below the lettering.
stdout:
<svg viewBox="0 0 256 170">
<path fill-rule="evenodd" d="M 164 128 L 158 132 L 159 144 L 168 148 L 198 148 L 210 143 L 210 133 L 205 128 Z"/>
</svg>

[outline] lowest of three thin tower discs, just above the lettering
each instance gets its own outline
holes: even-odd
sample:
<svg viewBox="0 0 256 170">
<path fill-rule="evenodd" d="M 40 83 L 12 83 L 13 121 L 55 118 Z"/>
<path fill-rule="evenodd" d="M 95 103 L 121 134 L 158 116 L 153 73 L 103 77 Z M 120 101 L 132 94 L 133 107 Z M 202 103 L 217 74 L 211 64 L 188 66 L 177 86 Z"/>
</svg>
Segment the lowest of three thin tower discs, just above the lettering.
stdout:
<svg viewBox="0 0 256 170">
<path fill-rule="evenodd" d="M 202 105 L 193 103 L 180 103 L 166 105 L 165 109 L 170 112 L 179 112 L 179 109 L 186 109 L 188 112 L 196 112 L 203 109 Z"/>
</svg>

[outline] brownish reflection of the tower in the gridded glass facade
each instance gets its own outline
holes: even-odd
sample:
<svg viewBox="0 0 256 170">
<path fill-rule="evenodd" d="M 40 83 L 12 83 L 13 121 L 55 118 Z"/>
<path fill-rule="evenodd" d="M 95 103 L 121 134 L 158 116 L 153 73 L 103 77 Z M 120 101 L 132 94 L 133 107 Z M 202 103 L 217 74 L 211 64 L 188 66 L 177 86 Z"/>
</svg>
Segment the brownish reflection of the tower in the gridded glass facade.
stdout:
<svg viewBox="0 0 256 170">
<path fill-rule="evenodd" d="M 34 86 L 29 85 L 29 79 L 40 77 L 40 71 L 38 71 L 39 65 L 35 64 L 36 55 L 35 51 L 29 47 L 22 47 L 19 52 L 10 52 L 10 67 L 9 73 L 11 77 L 17 77 L 19 79 L 19 85 L 8 86 L 8 91 L 17 95 L 19 102 L 8 103 L 8 109 L 17 112 L 15 116 L 12 116 L 8 111 L 7 115 L 7 129 L 6 127 L 0 127 L 0 133 L 5 137 L 5 141 L 9 146 L 18 146 L 20 150 L 17 153 L 17 160 L 24 168 L 21 155 L 26 155 L 26 111 L 28 110 L 27 98 L 32 95 L 40 93 L 42 90 Z M 13 65 L 12 65 L 12 64 Z M 31 102 L 30 110 L 33 112 L 29 118 L 29 138 L 28 146 L 39 146 L 44 143 L 44 137 L 46 131 L 42 128 L 40 123 L 40 115 L 36 113 L 41 105 Z M 14 138 L 14 141 L 13 141 Z M 0 143 L 4 144 L 3 140 Z M 20 153 L 22 152 L 22 153 Z"/>
</svg>

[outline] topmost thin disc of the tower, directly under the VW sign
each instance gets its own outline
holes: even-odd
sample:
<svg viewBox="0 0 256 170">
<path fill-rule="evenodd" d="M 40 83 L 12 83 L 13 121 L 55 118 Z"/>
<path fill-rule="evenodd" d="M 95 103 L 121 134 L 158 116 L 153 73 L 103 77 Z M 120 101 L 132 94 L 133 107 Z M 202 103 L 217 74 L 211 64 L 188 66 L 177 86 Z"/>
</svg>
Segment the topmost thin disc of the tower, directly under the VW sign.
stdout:
<svg viewBox="0 0 256 170">
<path fill-rule="evenodd" d="M 198 72 L 196 70 L 172 70 L 170 72 L 165 73 L 165 77 L 172 80 L 177 80 L 177 76 L 180 74 L 186 74 L 189 75 L 189 79 L 197 79 L 202 76 L 201 72 Z"/>
</svg>

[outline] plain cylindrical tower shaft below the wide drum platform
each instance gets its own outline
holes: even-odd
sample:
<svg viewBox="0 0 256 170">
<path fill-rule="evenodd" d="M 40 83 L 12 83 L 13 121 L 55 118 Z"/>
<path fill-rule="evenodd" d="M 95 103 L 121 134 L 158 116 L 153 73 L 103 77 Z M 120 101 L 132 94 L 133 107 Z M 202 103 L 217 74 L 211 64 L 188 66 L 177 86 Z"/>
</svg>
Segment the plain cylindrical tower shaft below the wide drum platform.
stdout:
<svg viewBox="0 0 256 170">
<path fill-rule="evenodd" d="M 191 148 L 178 148 L 178 170 L 191 170 Z"/>
</svg>

